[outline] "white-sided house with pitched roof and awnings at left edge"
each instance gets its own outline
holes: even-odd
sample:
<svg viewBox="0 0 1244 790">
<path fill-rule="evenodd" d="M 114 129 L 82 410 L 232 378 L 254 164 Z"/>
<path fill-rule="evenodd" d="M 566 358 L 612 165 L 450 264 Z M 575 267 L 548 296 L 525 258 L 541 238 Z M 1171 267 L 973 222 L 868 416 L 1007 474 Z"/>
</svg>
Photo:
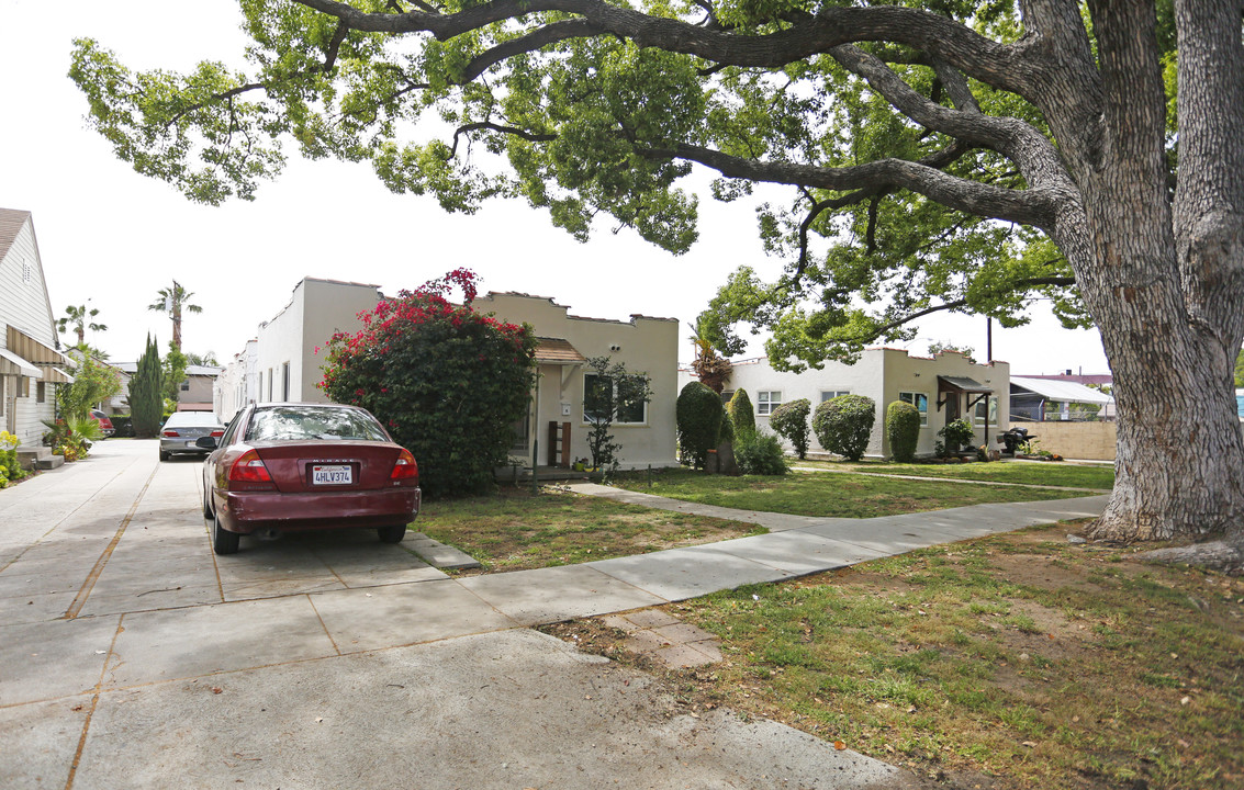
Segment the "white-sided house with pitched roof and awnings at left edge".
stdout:
<svg viewBox="0 0 1244 790">
<path fill-rule="evenodd" d="M 0 209 L 0 428 L 22 447 L 42 442 L 56 386 L 71 383 L 60 351 L 30 211 Z"/>
</svg>

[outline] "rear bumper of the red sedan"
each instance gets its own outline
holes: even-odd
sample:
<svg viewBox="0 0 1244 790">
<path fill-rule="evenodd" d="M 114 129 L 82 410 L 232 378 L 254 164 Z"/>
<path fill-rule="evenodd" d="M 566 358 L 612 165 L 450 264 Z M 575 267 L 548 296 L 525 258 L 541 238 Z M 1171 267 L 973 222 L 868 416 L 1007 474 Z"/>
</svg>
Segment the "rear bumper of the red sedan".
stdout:
<svg viewBox="0 0 1244 790">
<path fill-rule="evenodd" d="M 265 529 L 294 532 L 408 524 L 419 514 L 420 499 L 418 488 L 338 494 L 216 491 L 215 506 L 221 526 L 249 535 Z"/>
</svg>

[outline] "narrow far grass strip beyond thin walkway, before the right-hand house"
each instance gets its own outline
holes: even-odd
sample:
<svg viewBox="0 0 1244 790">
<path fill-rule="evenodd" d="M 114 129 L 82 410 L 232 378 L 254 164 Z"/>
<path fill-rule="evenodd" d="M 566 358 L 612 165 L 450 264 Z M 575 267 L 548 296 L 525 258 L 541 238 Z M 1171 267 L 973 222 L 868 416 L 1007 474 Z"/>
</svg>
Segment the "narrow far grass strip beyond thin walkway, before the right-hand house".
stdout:
<svg viewBox="0 0 1244 790">
<path fill-rule="evenodd" d="M 868 472 L 872 474 L 911 474 L 922 478 L 988 480 L 1019 485 L 1067 485 L 1071 488 L 1111 489 L 1115 468 L 1069 464 L 1065 462 L 998 462 L 990 464 L 893 464 L 889 462 L 799 460 L 800 467 Z"/>
</svg>

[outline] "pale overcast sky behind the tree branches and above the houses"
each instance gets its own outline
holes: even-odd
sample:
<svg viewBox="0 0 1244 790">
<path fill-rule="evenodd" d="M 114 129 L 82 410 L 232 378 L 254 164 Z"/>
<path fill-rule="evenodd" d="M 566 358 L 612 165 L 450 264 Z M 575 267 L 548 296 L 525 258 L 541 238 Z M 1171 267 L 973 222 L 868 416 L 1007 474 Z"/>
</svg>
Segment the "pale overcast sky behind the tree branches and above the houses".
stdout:
<svg viewBox="0 0 1244 790">
<path fill-rule="evenodd" d="M 229 0 L 0 0 L 0 207 L 32 211 L 55 315 L 90 300 L 108 331 L 88 341 L 113 361 L 137 358 L 148 332 L 164 351 L 170 322 L 147 305 L 174 277 L 203 307 L 183 321 L 184 350 L 228 362 L 305 276 L 393 294 L 466 266 L 484 290 L 550 296 L 581 316 L 680 318 L 685 337 L 685 322 L 738 266 L 781 269 L 764 255 L 745 202 L 703 195 L 700 241 L 673 256 L 608 223 L 578 244 L 519 202 L 449 215 L 430 198 L 387 192 L 367 164 L 305 162 L 287 148 L 284 175 L 255 202 L 211 208 L 138 175 L 86 129 L 86 101 L 66 76 L 73 37 L 98 40 L 131 68 L 241 65 L 239 22 Z M 1044 304 L 1033 315 L 1026 327 L 994 326 L 994 358 L 1013 373 L 1107 371 L 1096 331 L 1062 330 Z M 983 360 L 985 318 L 927 318 L 903 347 L 924 353 L 931 341 Z M 759 342 L 749 350 L 760 353 Z M 679 358 L 690 356 L 684 342 Z"/>
</svg>

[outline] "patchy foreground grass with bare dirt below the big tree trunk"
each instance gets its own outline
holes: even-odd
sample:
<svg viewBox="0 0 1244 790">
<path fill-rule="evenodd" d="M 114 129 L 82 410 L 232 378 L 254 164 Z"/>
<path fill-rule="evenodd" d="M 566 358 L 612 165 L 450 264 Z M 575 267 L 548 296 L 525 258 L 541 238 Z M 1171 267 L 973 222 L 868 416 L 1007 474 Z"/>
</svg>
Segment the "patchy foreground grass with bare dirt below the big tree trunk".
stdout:
<svg viewBox="0 0 1244 790">
<path fill-rule="evenodd" d="M 627 653 L 598 620 L 549 631 L 663 676 L 687 713 L 780 720 L 931 786 L 1244 786 L 1244 580 L 1072 529 L 669 605 L 722 641 L 695 669 Z"/>
</svg>

